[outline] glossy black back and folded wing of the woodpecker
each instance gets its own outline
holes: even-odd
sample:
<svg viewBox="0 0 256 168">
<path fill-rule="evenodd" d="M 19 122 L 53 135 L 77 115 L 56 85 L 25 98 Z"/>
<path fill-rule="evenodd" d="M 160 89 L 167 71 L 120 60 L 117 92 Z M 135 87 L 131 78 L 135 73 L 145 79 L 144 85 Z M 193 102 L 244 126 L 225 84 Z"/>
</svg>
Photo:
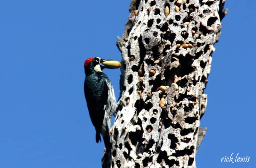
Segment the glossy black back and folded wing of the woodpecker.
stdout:
<svg viewBox="0 0 256 168">
<path fill-rule="evenodd" d="M 104 73 L 97 72 L 86 77 L 84 81 L 84 95 L 92 124 L 96 129 L 96 142 L 101 141 L 100 130 L 105 114 L 104 106 L 108 101 L 107 80 L 108 77 Z"/>
</svg>

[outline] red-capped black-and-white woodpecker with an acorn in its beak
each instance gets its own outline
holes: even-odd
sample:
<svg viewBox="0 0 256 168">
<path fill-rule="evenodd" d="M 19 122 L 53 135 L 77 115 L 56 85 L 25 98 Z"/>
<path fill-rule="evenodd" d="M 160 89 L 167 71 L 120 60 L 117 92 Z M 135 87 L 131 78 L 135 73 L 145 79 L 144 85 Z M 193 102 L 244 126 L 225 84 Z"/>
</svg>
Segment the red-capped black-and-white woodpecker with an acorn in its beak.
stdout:
<svg viewBox="0 0 256 168">
<path fill-rule="evenodd" d="M 102 63 L 105 66 L 100 65 Z M 103 136 L 106 149 L 109 147 L 109 129 L 112 115 L 116 110 L 116 98 L 112 83 L 102 69 L 119 68 L 121 63 L 99 57 L 88 58 L 84 62 L 84 95 L 92 124 L 96 129 L 96 142 Z"/>
</svg>

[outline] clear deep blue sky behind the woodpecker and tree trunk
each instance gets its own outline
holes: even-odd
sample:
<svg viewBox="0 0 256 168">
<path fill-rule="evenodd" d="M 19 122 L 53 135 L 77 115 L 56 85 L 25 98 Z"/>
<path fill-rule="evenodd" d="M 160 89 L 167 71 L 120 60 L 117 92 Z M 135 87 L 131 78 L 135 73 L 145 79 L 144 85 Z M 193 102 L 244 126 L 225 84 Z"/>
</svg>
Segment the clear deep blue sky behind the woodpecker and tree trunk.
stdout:
<svg viewBox="0 0 256 168">
<path fill-rule="evenodd" d="M 84 99 L 84 60 L 121 61 L 116 37 L 128 1 L 7 1 L 0 4 L 0 167 L 100 167 L 104 144 Z M 255 2 L 227 0 L 215 45 L 196 164 L 256 167 Z M 106 70 L 119 97 L 120 70 Z M 232 153 L 249 163 L 221 163 Z"/>
</svg>

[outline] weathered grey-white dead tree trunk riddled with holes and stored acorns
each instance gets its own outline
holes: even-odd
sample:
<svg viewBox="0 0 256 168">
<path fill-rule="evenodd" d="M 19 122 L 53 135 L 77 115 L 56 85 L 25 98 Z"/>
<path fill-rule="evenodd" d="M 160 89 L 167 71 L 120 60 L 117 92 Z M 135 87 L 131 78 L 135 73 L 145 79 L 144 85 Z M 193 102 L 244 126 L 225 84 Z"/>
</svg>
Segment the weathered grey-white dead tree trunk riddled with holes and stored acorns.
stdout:
<svg viewBox="0 0 256 168">
<path fill-rule="evenodd" d="M 117 46 L 119 108 L 103 167 L 196 167 L 225 0 L 132 0 Z"/>
</svg>

